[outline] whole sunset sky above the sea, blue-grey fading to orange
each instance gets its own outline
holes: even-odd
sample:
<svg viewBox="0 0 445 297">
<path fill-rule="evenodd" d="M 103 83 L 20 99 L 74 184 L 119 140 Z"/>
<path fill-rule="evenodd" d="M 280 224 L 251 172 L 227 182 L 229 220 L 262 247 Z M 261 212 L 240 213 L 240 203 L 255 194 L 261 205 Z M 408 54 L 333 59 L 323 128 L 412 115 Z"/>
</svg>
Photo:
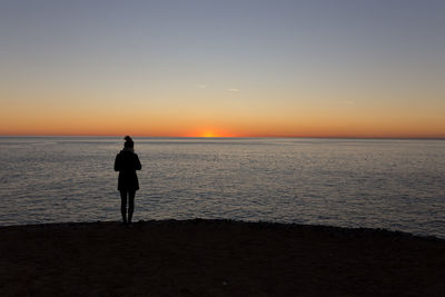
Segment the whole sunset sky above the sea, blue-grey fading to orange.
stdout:
<svg viewBox="0 0 445 297">
<path fill-rule="evenodd" d="M 0 1 L 0 135 L 445 137 L 445 1 Z"/>
</svg>

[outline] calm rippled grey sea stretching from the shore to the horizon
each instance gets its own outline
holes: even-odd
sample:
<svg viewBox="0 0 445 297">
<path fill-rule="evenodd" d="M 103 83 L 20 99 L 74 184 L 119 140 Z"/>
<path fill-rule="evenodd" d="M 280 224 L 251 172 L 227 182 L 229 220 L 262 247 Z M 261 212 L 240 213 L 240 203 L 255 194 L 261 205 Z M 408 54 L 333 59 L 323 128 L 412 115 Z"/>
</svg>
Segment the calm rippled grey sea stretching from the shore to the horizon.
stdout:
<svg viewBox="0 0 445 297">
<path fill-rule="evenodd" d="M 135 220 L 229 218 L 445 238 L 445 141 L 135 138 Z M 0 138 L 0 225 L 119 220 L 123 140 Z"/>
</svg>

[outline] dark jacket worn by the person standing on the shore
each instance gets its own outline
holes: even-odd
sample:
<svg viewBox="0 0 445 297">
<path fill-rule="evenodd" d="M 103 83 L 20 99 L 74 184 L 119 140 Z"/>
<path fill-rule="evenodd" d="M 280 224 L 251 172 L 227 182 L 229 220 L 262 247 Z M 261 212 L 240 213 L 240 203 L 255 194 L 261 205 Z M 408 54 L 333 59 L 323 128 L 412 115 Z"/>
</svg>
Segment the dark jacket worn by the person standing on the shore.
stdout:
<svg viewBox="0 0 445 297">
<path fill-rule="evenodd" d="M 115 160 L 115 171 L 119 171 L 118 190 L 138 190 L 139 181 L 136 170 L 141 168 L 138 155 L 121 150 Z"/>
</svg>

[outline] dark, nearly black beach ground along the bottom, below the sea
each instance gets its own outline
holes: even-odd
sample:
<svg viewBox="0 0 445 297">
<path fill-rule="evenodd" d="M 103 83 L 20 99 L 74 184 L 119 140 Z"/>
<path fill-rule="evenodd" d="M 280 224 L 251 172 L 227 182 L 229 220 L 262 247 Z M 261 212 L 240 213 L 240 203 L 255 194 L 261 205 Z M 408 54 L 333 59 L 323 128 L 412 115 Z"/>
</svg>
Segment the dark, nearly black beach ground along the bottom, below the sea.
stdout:
<svg viewBox="0 0 445 297">
<path fill-rule="evenodd" d="M 445 296 L 445 240 L 226 220 L 0 228 L 0 296 Z"/>
</svg>

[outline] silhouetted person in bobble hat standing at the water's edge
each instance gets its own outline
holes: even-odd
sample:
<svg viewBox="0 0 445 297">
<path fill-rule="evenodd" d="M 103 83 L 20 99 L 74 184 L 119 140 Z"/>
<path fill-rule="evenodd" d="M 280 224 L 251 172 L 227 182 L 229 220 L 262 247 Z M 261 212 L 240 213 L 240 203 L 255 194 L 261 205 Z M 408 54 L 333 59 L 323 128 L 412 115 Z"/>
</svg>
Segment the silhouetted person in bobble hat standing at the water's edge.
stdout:
<svg viewBox="0 0 445 297">
<path fill-rule="evenodd" d="M 123 224 L 131 224 L 135 210 L 135 195 L 139 189 L 138 176 L 136 170 L 140 170 L 138 155 L 135 154 L 135 142 L 131 137 L 125 137 L 123 149 L 116 156 L 115 171 L 119 171 L 118 190 L 120 191 L 120 212 Z M 128 197 L 128 220 L 127 220 L 127 197 Z"/>
</svg>

